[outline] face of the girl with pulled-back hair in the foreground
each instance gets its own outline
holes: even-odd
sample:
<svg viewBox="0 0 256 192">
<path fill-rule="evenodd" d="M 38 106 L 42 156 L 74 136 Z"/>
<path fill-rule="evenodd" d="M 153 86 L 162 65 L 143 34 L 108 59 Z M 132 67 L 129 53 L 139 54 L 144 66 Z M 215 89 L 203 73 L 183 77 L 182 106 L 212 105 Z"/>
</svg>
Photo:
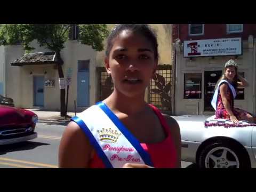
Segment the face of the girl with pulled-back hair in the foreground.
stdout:
<svg viewBox="0 0 256 192">
<path fill-rule="evenodd" d="M 157 62 L 151 42 L 130 30 L 123 30 L 113 39 L 109 58 L 105 59 L 115 89 L 127 97 L 145 93 Z"/>
</svg>

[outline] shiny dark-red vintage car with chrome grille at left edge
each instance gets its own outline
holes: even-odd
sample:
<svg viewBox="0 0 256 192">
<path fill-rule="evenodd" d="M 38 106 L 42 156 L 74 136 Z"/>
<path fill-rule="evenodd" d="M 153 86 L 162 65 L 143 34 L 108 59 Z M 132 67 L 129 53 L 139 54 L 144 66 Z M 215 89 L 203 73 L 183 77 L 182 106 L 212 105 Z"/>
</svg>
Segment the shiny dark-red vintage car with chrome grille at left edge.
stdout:
<svg viewBox="0 0 256 192">
<path fill-rule="evenodd" d="M 37 120 L 32 111 L 0 105 L 0 145 L 37 138 Z"/>
</svg>

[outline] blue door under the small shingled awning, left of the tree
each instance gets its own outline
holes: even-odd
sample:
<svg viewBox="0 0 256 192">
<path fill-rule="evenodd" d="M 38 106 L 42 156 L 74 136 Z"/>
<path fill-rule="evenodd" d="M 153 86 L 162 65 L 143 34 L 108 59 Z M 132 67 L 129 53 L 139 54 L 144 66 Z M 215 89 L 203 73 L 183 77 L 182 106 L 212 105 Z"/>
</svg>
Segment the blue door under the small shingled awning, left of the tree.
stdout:
<svg viewBox="0 0 256 192">
<path fill-rule="evenodd" d="M 44 106 L 44 76 L 34 76 L 34 106 Z"/>
</svg>

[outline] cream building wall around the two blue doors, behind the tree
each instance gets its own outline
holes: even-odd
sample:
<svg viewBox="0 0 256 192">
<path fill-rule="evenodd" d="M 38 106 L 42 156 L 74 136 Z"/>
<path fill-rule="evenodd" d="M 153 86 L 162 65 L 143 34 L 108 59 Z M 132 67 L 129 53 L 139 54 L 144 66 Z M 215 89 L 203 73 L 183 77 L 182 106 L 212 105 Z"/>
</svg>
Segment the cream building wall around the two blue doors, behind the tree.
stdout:
<svg viewBox="0 0 256 192">
<path fill-rule="evenodd" d="M 45 47 L 39 47 L 34 41 L 31 43 L 35 50 L 31 52 L 49 52 Z M 13 98 L 14 105 L 22 108 L 34 107 L 34 90 L 33 77 L 35 75 L 44 76 L 45 79 L 55 80 L 55 87 L 44 87 L 44 107 L 47 110 L 60 110 L 60 89 L 59 74 L 53 64 L 47 65 L 25 65 L 22 67 L 11 66 L 11 62 L 20 58 L 25 52 L 21 45 L 5 46 L 5 63 L 6 63 L 6 95 Z M 0 49 L 1 54 L 1 49 Z M 61 51 L 61 58 L 64 61 L 62 69 L 64 76 L 67 75 L 67 69 L 73 69 L 72 81 L 69 86 L 68 111 L 74 111 L 74 100 L 77 100 L 77 65 L 78 60 L 90 59 L 90 105 L 96 100 L 96 70 L 95 70 L 95 54 L 96 52 L 87 45 L 78 43 L 77 41 L 68 41 L 65 48 Z M 30 72 L 32 74 L 30 74 Z M 45 74 L 46 72 L 46 74 Z M 1 76 L 0 76 L 1 78 Z M 38 108 L 38 107 L 37 107 Z M 85 108 L 77 109 L 83 110 Z"/>
</svg>

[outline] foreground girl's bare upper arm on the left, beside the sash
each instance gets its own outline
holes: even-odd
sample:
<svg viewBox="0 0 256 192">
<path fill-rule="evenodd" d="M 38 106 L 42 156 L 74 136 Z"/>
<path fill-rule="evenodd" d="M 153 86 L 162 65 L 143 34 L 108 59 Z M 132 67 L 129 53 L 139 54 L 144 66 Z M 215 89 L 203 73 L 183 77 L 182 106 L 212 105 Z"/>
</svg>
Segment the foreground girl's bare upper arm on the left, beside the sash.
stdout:
<svg viewBox="0 0 256 192">
<path fill-rule="evenodd" d="M 82 129 L 70 122 L 60 141 L 59 167 L 88 167 L 92 149 Z"/>
</svg>

